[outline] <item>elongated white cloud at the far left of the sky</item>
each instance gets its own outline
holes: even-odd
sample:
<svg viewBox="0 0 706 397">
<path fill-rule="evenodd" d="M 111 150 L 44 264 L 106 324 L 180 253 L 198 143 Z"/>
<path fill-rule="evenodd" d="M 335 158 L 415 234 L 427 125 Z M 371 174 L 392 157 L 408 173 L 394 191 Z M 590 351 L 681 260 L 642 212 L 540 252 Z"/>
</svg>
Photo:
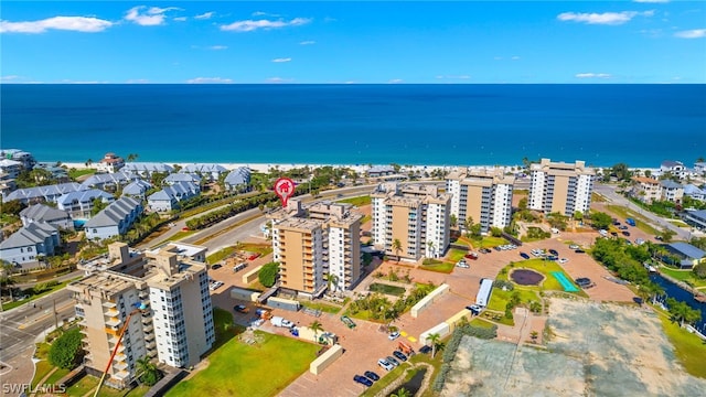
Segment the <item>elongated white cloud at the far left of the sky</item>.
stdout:
<svg viewBox="0 0 706 397">
<path fill-rule="evenodd" d="M 114 24 L 110 21 L 93 17 L 53 17 L 39 21 L 0 21 L 0 33 L 44 33 L 51 29 L 96 33 L 103 32 Z"/>
</svg>

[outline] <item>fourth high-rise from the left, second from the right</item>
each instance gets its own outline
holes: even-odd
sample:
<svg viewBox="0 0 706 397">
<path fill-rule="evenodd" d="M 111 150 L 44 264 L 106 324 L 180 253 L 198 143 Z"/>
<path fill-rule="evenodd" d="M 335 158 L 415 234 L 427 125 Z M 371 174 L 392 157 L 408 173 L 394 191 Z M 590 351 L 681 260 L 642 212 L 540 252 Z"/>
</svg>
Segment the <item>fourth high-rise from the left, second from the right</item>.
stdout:
<svg viewBox="0 0 706 397">
<path fill-rule="evenodd" d="M 451 215 L 459 225 L 467 219 L 481 225 L 481 232 L 503 228 L 512 221 L 512 191 L 515 178 L 500 169 L 459 169 L 448 174 L 446 191 L 451 194 Z"/>
</svg>

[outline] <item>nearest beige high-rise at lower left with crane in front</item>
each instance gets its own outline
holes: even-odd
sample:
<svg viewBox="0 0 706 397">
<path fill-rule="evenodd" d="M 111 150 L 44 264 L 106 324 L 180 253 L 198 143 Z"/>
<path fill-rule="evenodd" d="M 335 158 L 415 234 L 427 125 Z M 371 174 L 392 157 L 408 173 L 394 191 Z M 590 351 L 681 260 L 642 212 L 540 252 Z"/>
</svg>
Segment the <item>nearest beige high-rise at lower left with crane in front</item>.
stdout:
<svg viewBox="0 0 706 397">
<path fill-rule="evenodd" d="M 186 367 L 213 346 L 205 264 L 170 250 L 142 254 L 114 243 L 107 257 L 82 269 L 86 276 L 68 289 L 75 293 L 76 314 L 83 318 L 84 364 L 100 375 L 117 346 L 108 385 L 126 387 L 141 357 Z"/>
</svg>

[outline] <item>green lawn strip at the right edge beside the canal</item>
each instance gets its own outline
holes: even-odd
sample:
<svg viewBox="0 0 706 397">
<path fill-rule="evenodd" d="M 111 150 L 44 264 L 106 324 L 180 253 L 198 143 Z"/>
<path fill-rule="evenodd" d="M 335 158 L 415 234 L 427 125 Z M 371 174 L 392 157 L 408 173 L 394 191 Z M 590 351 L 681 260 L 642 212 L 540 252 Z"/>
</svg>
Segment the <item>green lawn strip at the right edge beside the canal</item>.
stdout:
<svg viewBox="0 0 706 397">
<path fill-rule="evenodd" d="M 674 345 L 676 358 L 687 373 L 706 378 L 706 345 L 700 337 L 682 330 L 678 323 L 673 323 L 668 315 L 660 312 L 660 321 L 664 333 Z"/>
</svg>

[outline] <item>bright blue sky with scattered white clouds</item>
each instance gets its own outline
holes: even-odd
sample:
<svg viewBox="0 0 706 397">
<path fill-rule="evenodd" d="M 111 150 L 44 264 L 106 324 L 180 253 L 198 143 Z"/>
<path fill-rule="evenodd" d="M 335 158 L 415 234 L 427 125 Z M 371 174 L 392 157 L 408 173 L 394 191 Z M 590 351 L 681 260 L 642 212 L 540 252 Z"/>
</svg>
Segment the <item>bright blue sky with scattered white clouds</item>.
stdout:
<svg viewBox="0 0 706 397">
<path fill-rule="evenodd" d="M 706 83 L 704 1 L 2 1 L 2 83 Z"/>
</svg>

